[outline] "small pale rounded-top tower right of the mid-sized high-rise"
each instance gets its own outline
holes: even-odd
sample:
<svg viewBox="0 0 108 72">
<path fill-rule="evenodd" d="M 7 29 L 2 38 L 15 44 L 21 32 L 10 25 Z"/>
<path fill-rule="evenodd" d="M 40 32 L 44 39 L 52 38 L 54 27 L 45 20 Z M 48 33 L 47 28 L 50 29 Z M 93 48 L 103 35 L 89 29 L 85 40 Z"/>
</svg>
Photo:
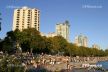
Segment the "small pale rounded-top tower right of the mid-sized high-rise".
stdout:
<svg viewBox="0 0 108 72">
<path fill-rule="evenodd" d="M 75 44 L 77 46 L 84 46 L 84 47 L 87 47 L 87 44 L 88 44 L 88 39 L 86 36 L 84 35 L 78 35 L 75 37 Z"/>
</svg>

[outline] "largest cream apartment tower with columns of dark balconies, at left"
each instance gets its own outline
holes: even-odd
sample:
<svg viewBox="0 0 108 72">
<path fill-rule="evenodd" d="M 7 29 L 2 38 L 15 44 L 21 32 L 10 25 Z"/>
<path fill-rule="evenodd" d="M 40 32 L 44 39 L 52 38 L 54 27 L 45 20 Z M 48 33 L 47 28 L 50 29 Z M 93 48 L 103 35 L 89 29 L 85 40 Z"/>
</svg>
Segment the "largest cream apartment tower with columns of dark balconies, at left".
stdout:
<svg viewBox="0 0 108 72">
<path fill-rule="evenodd" d="M 28 7 L 15 9 L 12 30 L 19 29 L 22 31 L 27 28 L 36 28 L 39 31 L 39 18 L 40 11 L 38 9 L 31 9 Z"/>
</svg>

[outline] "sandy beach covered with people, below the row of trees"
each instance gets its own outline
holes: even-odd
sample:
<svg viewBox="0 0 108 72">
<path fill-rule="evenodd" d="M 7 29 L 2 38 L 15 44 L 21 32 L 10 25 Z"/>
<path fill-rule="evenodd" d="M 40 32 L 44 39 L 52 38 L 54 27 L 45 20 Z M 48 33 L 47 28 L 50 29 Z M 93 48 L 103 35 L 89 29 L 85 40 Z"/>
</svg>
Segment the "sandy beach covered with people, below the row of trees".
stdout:
<svg viewBox="0 0 108 72">
<path fill-rule="evenodd" d="M 1 55 L 7 61 L 7 67 L 20 67 L 24 71 L 35 72 L 102 72 L 96 67 L 97 62 L 107 61 L 108 57 L 70 57 L 48 54 L 33 55 L 30 53 L 20 55 Z M 13 64 L 16 61 L 19 64 Z M 91 67 L 92 66 L 92 67 Z M 96 67 L 96 68 L 94 68 Z"/>
</svg>

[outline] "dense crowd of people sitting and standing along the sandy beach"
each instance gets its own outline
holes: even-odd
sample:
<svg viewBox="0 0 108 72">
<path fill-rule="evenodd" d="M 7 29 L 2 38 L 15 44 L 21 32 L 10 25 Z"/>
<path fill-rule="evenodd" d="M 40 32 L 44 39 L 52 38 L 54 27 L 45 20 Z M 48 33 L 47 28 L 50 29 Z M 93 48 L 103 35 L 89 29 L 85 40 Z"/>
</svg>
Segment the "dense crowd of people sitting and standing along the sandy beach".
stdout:
<svg viewBox="0 0 108 72">
<path fill-rule="evenodd" d="M 0 52 L 3 56 L 3 52 Z M 72 70 L 80 68 L 83 63 L 96 63 L 98 61 L 108 60 L 108 57 L 70 57 L 61 55 L 33 54 L 33 53 L 17 53 L 12 56 L 18 59 L 25 70 L 29 69 L 46 69 L 48 71 L 60 71 L 62 69 Z"/>
</svg>

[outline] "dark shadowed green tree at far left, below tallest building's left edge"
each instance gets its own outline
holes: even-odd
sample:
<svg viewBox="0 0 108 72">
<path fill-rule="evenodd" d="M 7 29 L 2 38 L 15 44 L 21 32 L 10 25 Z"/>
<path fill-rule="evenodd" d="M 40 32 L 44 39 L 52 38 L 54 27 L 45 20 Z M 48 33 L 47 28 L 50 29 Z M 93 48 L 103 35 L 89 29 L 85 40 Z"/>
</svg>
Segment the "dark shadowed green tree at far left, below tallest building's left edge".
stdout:
<svg viewBox="0 0 108 72">
<path fill-rule="evenodd" d="M 21 42 L 21 32 L 19 30 L 7 32 L 7 36 L 3 41 L 3 51 L 12 53 L 15 51 L 15 45 L 17 42 Z"/>
</svg>

